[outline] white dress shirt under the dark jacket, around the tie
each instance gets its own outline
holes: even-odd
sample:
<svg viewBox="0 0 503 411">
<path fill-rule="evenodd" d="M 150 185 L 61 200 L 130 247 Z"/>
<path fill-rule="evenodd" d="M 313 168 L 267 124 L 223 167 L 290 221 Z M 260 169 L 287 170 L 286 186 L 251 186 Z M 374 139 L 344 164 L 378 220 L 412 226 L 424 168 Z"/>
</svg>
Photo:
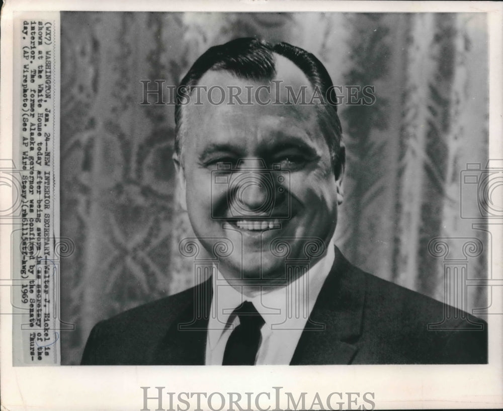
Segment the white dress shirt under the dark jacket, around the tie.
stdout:
<svg viewBox="0 0 503 411">
<path fill-rule="evenodd" d="M 244 301 L 253 303 L 264 318 L 261 343 L 256 365 L 288 365 L 293 357 L 307 319 L 333 264 L 333 243 L 321 260 L 286 287 L 263 287 L 256 295 L 247 297 L 230 286 L 215 268 L 211 301 L 206 365 L 222 365 L 225 345 L 239 318 L 231 314 Z"/>
</svg>

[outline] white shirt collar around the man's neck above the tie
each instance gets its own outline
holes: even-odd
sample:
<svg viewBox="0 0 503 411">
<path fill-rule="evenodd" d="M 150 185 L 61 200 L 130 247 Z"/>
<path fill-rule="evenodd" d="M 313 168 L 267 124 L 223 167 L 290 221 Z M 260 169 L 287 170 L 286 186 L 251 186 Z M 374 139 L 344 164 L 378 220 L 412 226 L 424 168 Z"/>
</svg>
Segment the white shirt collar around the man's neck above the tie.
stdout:
<svg viewBox="0 0 503 411">
<path fill-rule="evenodd" d="M 263 330 L 272 330 L 274 329 L 273 325 L 278 323 L 281 323 L 282 328 L 285 329 L 303 329 L 333 265 L 335 252 L 332 241 L 330 241 L 327 248 L 326 254 L 310 267 L 308 272 L 289 283 L 286 287 L 271 287 L 271 290 L 264 287 L 262 292 L 253 297 L 247 297 L 230 286 L 218 269 L 213 267 L 213 298 L 208 323 L 210 348 L 213 349 L 222 333 L 227 328 L 232 327 L 234 318 L 229 319 L 229 317 L 234 309 L 244 301 L 253 303 L 264 318 Z M 292 296 L 294 296 L 295 300 L 293 306 Z M 287 304 L 290 304 L 291 309 L 305 315 L 285 315 Z"/>
</svg>

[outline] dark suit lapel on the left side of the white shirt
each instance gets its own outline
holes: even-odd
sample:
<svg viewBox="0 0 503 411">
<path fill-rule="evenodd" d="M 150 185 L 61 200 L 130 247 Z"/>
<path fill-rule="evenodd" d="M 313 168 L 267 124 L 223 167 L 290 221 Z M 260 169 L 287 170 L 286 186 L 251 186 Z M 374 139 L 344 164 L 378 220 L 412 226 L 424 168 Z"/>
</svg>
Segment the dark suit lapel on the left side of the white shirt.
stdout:
<svg viewBox="0 0 503 411">
<path fill-rule="evenodd" d="M 212 293 L 211 278 L 194 287 L 192 298 L 179 307 L 181 314 L 158 344 L 152 364 L 204 365 Z"/>
</svg>

